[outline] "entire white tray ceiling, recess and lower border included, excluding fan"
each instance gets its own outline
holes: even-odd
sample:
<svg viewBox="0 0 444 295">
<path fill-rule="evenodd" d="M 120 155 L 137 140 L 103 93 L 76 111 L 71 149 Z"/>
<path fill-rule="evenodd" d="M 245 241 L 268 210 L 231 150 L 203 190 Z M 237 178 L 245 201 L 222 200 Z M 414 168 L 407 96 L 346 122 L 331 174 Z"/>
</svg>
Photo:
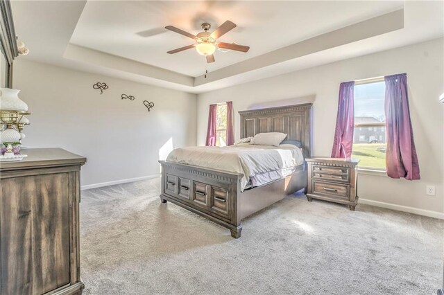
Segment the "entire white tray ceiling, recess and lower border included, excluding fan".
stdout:
<svg viewBox="0 0 444 295">
<path fill-rule="evenodd" d="M 17 35 L 31 49 L 19 58 L 193 93 L 444 35 L 443 1 L 77 0 L 11 5 Z M 404 19 L 388 14 L 400 8 Z M 379 15 L 393 24 L 380 24 Z M 203 21 L 214 29 L 227 19 L 238 27 L 221 41 L 248 45 L 248 53 L 216 51 L 216 62 L 209 65 L 192 49 L 166 53 L 193 40 L 164 26 L 198 33 Z M 304 49 L 307 44 L 309 50 Z M 205 69 L 210 71 L 207 79 Z"/>
</svg>

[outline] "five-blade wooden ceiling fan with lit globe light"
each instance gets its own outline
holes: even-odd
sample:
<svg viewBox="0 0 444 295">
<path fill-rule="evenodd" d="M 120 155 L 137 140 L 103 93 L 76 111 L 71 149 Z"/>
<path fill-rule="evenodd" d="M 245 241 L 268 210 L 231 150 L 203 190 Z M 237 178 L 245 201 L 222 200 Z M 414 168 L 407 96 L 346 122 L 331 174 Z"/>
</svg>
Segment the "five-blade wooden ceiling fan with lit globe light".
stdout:
<svg viewBox="0 0 444 295">
<path fill-rule="evenodd" d="M 223 24 L 221 24 L 221 26 L 219 26 L 219 28 L 216 28 L 216 30 L 214 30 L 213 33 L 208 32 L 208 30 L 210 30 L 211 28 L 211 25 L 208 23 L 203 23 L 202 24 L 203 32 L 198 33 L 197 35 L 190 34 L 188 32 L 185 32 L 185 30 L 180 30 L 180 28 L 176 28 L 174 26 L 166 26 L 165 28 L 167 30 L 172 30 L 173 32 L 179 33 L 181 35 L 196 40 L 196 44 L 191 44 L 188 46 L 174 49 L 172 51 L 168 51 L 167 53 L 169 54 L 178 53 L 180 51 L 185 51 L 191 48 L 196 48 L 196 51 L 200 55 L 205 55 L 207 62 L 210 63 L 215 61 L 213 53 L 214 51 L 216 51 L 216 47 L 230 49 L 234 51 L 241 51 L 241 52 L 247 52 L 250 49 L 250 47 L 248 46 L 217 41 L 219 37 L 225 35 L 225 33 L 228 33 L 233 28 L 236 28 L 236 24 L 234 24 L 232 21 L 225 21 Z"/>
</svg>

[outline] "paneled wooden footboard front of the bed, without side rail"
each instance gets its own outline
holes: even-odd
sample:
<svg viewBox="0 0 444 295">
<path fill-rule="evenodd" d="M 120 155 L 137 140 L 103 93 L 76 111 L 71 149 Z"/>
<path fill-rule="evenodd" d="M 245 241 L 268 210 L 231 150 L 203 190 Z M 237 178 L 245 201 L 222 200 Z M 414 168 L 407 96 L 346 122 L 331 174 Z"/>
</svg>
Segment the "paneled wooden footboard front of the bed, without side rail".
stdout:
<svg viewBox="0 0 444 295">
<path fill-rule="evenodd" d="M 238 220 L 242 174 L 159 161 L 162 166 L 162 203 L 170 201 L 230 229 L 233 238 L 242 231 Z"/>
</svg>

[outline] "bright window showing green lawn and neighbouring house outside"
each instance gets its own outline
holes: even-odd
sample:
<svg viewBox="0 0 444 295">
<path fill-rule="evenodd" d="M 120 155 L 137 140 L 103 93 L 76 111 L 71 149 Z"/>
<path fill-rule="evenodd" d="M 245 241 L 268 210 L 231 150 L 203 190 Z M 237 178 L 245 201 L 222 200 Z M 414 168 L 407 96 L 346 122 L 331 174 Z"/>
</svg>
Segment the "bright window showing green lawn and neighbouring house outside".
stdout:
<svg viewBox="0 0 444 295">
<path fill-rule="evenodd" d="M 352 157 L 362 168 L 386 169 L 384 79 L 355 84 L 355 137 Z M 361 127 L 365 128 L 361 128 Z M 363 140 L 364 138 L 364 140 Z"/>
</svg>

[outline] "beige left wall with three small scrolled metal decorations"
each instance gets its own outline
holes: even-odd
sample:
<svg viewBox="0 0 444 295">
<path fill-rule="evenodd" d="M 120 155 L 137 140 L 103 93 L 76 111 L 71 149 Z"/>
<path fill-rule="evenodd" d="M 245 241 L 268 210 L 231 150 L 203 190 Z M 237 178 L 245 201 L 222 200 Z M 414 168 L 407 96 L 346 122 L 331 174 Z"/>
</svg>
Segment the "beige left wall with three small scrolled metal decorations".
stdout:
<svg viewBox="0 0 444 295">
<path fill-rule="evenodd" d="M 24 145 L 87 157 L 82 185 L 157 175 L 160 154 L 196 145 L 195 94 L 20 59 L 14 74 L 32 113 Z M 109 89 L 100 95 L 96 82 Z M 135 100 L 121 100 L 122 93 Z M 149 113 L 143 100 L 155 103 Z"/>
</svg>

